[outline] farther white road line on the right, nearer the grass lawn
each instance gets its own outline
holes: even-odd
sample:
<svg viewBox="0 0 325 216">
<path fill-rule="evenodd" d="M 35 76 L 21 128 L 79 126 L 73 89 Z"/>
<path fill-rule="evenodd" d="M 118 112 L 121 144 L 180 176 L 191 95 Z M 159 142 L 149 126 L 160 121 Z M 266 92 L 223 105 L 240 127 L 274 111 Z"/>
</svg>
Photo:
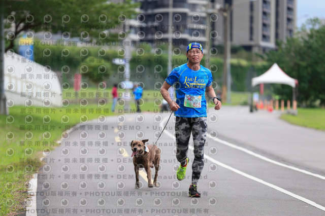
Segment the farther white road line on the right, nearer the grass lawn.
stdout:
<svg viewBox="0 0 325 216">
<path fill-rule="evenodd" d="M 256 158 L 259 158 L 259 159 L 262 159 L 262 160 L 265 160 L 265 161 L 268 161 L 270 163 L 273 163 L 273 164 L 276 164 L 276 165 L 279 165 L 279 166 L 283 166 L 285 168 L 288 168 L 288 169 L 292 169 L 292 170 L 295 170 L 295 171 L 298 171 L 298 172 L 302 172 L 302 173 L 305 173 L 307 175 L 312 175 L 314 177 L 317 177 L 317 178 L 320 178 L 320 179 L 323 179 L 325 180 L 325 176 L 322 176 L 322 175 L 319 175 L 319 174 L 315 174 L 315 173 L 312 173 L 312 172 L 309 172 L 307 170 L 304 170 L 304 169 L 300 169 L 300 168 L 297 168 L 297 167 L 294 167 L 294 166 L 289 166 L 289 165 L 286 165 L 286 164 L 283 164 L 283 163 L 280 163 L 278 161 L 275 161 L 275 160 L 272 160 L 270 158 L 267 158 L 263 155 L 259 155 L 257 153 L 254 153 L 248 149 L 245 149 L 245 148 L 242 148 L 242 147 L 239 147 L 239 146 L 236 146 L 228 141 L 224 141 L 222 139 L 219 139 L 219 138 L 212 138 L 213 140 L 217 141 L 217 142 L 220 142 L 221 144 L 225 145 L 225 146 L 228 146 L 228 147 L 231 147 L 231 148 L 234 148 L 234 149 L 237 149 L 237 150 L 240 150 L 242 152 L 245 152 L 249 155 L 252 155 Z"/>
</svg>

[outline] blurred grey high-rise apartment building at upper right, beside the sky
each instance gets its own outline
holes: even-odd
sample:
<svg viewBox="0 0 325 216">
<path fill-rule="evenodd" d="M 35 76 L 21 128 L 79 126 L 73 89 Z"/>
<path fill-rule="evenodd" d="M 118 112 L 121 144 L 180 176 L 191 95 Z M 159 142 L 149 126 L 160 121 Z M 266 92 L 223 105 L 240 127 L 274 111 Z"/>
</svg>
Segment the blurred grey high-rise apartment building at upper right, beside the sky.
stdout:
<svg viewBox="0 0 325 216">
<path fill-rule="evenodd" d="M 264 53 L 276 48 L 276 41 L 292 37 L 296 26 L 297 0 L 212 0 L 213 4 L 232 7 L 230 40 L 246 50 Z M 220 37 L 215 45 L 223 44 L 223 16 L 214 28 Z"/>
</svg>

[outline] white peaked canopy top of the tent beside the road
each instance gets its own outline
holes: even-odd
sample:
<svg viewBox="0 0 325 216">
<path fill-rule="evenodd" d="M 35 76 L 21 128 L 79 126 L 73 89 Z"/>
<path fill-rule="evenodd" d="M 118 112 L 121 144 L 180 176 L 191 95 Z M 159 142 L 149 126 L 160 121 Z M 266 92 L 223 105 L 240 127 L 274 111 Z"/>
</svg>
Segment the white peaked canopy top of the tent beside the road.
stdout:
<svg viewBox="0 0 325 216">
<path fill-rule="evenodd" d="M 283 72 L 277 63 L 274 63 L 264 74 L 252 79 L 252 86 L 261 83 L 285 84 L 295 88 L 298 81 L 289 77 Z"/>
</svg>

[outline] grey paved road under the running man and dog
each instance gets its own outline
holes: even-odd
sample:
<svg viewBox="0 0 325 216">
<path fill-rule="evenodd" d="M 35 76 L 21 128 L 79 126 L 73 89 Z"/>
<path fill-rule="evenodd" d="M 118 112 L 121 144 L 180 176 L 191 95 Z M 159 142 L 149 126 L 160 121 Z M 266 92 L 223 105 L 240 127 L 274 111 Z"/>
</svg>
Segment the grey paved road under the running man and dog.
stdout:
<svg viewBox="0 0 325 216">
<path fill-rule="evenodd" d="M 38 215 L 325 215 L 325 133 L 246 106 L 209 110 L 201 198 L 187 196 L 190 167 L 176 179 L 174 117 L 157 142 L 159 187 L 148 188 L 143 173 L 136 190 L 129 144 L 154 143 L 168 117 L 124 114 L 78 125 L 40 170 Z"/>
</svg>

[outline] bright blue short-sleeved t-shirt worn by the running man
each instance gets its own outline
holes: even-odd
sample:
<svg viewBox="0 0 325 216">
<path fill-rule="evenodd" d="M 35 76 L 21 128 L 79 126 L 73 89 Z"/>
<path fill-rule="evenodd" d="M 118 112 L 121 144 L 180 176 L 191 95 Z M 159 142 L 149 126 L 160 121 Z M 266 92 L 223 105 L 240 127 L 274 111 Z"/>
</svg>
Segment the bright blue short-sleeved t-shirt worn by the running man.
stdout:
<svg viewBox="0 0 325 216">
<path fill-rule="evenodd" d="M 169 85 L 175 84 L 176 102 L 180 108 L 175 111 L 175 116 L 179 117 L 206 117 L 207 116 L 207 101 L 205 99 L 205 89 L 213 82 L 211 71 L 200 65 L 199 70 L 190 69 L 187 64 L 182 64 L 175 67 L 171 74 L 165 79 Z M 190 102 L 192 98 L 196 101 L 191 106 L 184 105 Z M 200 97 L 201 96 L 201 97 Z M 198 98 L 201 100 L 201 107 L 198 105 Z"/>
</svg>

